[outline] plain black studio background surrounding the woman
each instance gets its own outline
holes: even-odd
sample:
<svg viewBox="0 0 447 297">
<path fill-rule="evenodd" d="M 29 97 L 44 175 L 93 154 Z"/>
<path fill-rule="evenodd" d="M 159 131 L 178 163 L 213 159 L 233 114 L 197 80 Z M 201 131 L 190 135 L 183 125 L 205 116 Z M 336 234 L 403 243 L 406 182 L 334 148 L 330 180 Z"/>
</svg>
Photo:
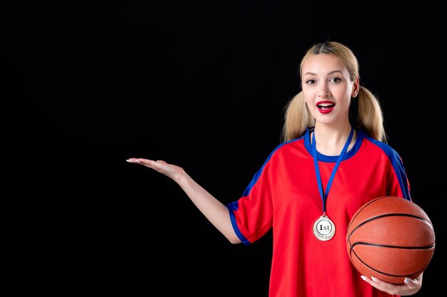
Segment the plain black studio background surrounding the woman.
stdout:
<svg viewBox="0 0 447 297">
<path fill-rule="evenodd" d="M 171 179 L 126 159 L 180 165 L 233 202 L 280 143 L 303 53 L 331 40 L 356 53 L 435 226 L 416 296 L 440 291 L 446 54 L 435 2 L 3 1 L 11 281 L 58 295 L 267 296 L 271 234 L 229 244 Z"/>
</svg>

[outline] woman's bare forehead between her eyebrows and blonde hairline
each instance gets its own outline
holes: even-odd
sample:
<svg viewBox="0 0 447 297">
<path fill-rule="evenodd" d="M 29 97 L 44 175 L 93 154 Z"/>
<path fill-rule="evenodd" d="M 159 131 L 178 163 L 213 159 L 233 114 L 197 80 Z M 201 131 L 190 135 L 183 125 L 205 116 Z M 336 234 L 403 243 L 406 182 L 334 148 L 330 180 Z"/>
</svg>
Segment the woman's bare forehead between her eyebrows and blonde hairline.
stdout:
<svg viewBox="0 0 447 297">
<path fill-rule="evenodd" d="M 335 55 L 320 53 L 307 58 L 303 63 L 302 74 L 326 75 L 333 71 L 341 71 L 348 74 L 348 69 L 343 61 Z"/>
</svg>

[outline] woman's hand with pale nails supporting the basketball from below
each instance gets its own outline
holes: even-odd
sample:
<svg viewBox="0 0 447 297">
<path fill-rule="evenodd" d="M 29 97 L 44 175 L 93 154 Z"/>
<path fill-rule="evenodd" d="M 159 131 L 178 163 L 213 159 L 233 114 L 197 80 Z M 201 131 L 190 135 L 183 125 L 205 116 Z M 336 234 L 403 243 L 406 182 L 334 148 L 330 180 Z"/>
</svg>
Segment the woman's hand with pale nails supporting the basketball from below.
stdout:
<svg viewBox="0 0 447 297">
<path fill-rule="evenodd" d="M 374 288 L 386 292 L 391 295 L 400 295 L 400 296 L 410 296 L 416 294 L 422 286 L 422 274 L 419 274 L 416 278 L 406 278 L 405 283 L 402 285 L 396 285 L 394 283 L 387 283 L 386 281 L 381 281 L 376 277 L 368 278 L 366 276 L 361 276 L 363 281 L 366 281 Z"/>
</svg>

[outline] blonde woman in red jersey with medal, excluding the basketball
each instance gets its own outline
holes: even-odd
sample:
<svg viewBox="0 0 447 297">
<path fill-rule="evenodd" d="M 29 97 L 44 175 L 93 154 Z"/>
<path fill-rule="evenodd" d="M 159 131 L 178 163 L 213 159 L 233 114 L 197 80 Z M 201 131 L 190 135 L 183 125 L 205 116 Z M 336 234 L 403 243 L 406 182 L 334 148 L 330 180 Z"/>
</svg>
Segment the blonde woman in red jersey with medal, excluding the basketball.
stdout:
<svg viewBox="0 0 447 297">
<path fill-rule="evenodd" d="M 361 276 L 348 259 L 346 229 L 376 197 L 411 200 L 401 157 L 386 144 L 377 98 L 361 86 L 358 61 L 341 43 L 303 56 L 301 92 L 286 107 L 283 142 L 242 197 L 224 205 L 181 168 L 129 158 L 174 179 L 233 244 L 273 230 L 269 296 L 407 296 L 423 275 L 393 284 Z"/>
</svg>

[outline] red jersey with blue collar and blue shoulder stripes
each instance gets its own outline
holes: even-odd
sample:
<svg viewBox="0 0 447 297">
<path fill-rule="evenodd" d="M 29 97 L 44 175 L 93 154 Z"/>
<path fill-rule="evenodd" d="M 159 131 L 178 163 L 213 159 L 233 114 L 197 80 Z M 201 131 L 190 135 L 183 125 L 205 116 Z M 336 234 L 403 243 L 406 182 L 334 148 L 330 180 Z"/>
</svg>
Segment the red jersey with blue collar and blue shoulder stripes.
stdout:
<svg viewBox="0 0 447 297">
<path fill-rule="evenodd" d="M 326 189 L 338 156 L 317 154 Z M 326 215 L 336 232 L 327 241 L 318 240 L 313 224 L 323 214 L 323 201 L 307 130 L 276 147 L 242 197 L 227 207 L 243 244 L 253 244 L 273 228 L 270 297 L 390 296 L 361 279 L 346 251 L 346 229 L 354 212 L 384 196 L 411 200 L 401 157 L 358 130 L 326 199 Z"/>
</svg>

